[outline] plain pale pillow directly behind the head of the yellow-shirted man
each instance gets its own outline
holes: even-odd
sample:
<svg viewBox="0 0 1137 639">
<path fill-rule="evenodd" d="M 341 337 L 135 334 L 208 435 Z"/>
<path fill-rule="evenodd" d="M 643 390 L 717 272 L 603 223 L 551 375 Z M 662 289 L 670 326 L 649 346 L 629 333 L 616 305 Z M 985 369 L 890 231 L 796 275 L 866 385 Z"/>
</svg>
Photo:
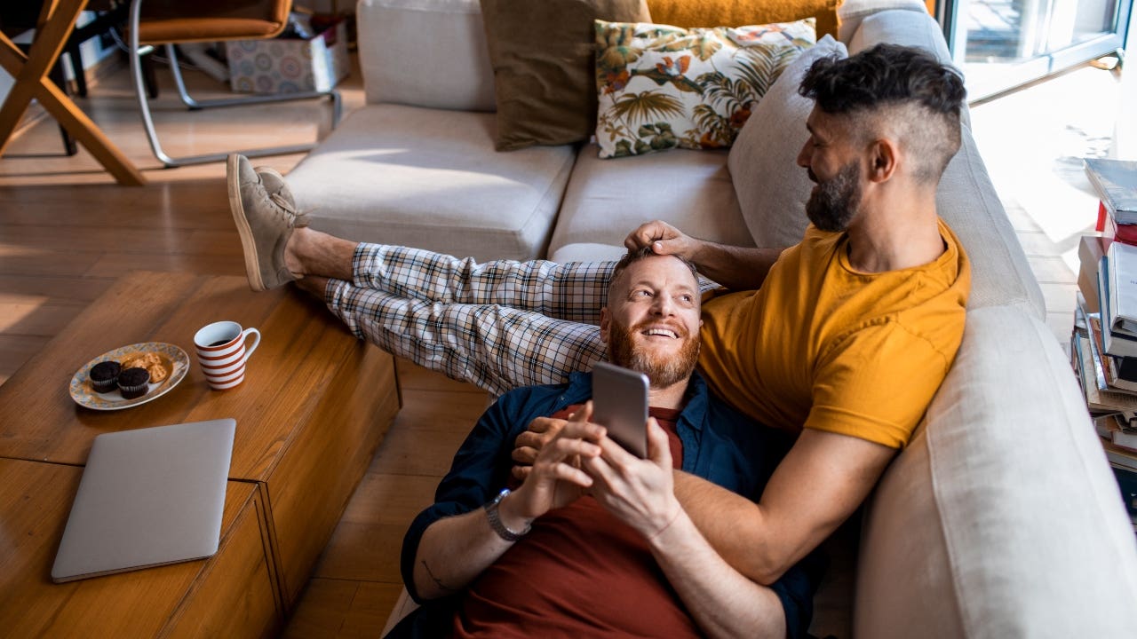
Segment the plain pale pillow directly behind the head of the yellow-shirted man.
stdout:
<svg viewBox="0 0 1137 639">
<path fill-rule="evenodd" d="M 805 201 L 813 182 L 797 166 L 797 156 L 810 136 L 805 119 L 813 100 L 799 96 L 797 88 L 810 66 L 828 56 L 845 57 L 845 45 L 830 35 L 786 67 L 730 149 L 727 166 L 755 246 L 789 247 L 805 234 Z"/>
</svg>

